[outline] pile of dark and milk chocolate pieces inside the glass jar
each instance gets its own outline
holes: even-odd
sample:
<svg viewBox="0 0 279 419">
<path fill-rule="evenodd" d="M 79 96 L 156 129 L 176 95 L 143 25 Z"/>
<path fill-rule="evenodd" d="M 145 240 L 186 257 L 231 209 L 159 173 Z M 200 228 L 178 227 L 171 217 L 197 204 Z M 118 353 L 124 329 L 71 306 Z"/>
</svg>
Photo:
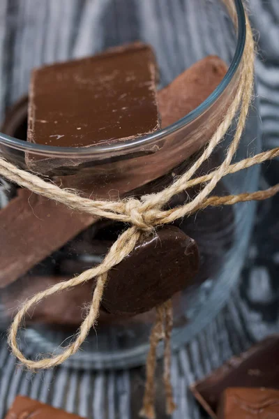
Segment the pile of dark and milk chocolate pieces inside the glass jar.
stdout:
<svg viewBox="0 0 279 419">
<path fill-rule="evenodd" d="M 23 161 L 25 168 L 44 179 L 79 189 L 89 198 L 125 198 L 160 191 L 196 159 L 222 115 L 212 112 L 210 122 L 200 115 L 198 129 L 193 129 L 189 138 L 186 133 L 166 136 L 160 142 L 141 142 L 142 138 L 192 112 L 226 72 L 221 59 L 206 57 L 157 91 L 156 59 L 151 47 L 143 43 L 38 68 L 31 77 L 29 96 L 7 113 L 1 131 L 36 145 L 72 147 L 77 154 L 67 155 L 63 148 L 59 156 L 30 151 L 20 154 L 8 147 L 2 147 L 1 154 L 17 164 Z M 136 150 L 110 149 L 131 140 L 139 140 Z M 100 146 L 107 147 L 105 154 L 98 151 Z M 84 147 L 97 147 L 96 153 L 79 154 Z M 213 170 L 221 159 L 216 152 L 197 175 Z M 181 205 L 198 192 L 199 186 L 179 193 L 167 207 Z M 213 193 L 228 191 L 220 182 Z M 13 185 L 2 206 L 1 306 L 11 316 L 27 297 L 100 263 L 126 227 L 73 212 Z M 181 291 L 213 278 L 233 242 L 231 207 L 209 208 L 158 230 L 110 272 L 99 323 L 149 311 L 152 321 L 153 307 L 170 297 L 179 301 Z M 41 302 L 30 321 L 79 325 L 82 307 L 91 301 L 94 285 L 90 281 Z M 177 309 L 179 304 L 175 305 Z"/>
</svg>

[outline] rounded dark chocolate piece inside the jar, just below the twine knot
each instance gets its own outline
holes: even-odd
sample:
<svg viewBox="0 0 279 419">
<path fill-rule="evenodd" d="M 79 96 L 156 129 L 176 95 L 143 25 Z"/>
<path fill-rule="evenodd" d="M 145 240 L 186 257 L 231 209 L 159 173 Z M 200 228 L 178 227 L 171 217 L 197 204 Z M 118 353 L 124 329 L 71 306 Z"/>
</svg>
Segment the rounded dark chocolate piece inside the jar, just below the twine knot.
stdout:
<svg viewBox="0 0 279 419">
<path fill-rule="evenodd" d="M 180 228 L 165 226 L 109 272 L 103 308 L 131 316 L 149 311 L 192 286 L 198 268 L 195 240 Z"/>
</svg>

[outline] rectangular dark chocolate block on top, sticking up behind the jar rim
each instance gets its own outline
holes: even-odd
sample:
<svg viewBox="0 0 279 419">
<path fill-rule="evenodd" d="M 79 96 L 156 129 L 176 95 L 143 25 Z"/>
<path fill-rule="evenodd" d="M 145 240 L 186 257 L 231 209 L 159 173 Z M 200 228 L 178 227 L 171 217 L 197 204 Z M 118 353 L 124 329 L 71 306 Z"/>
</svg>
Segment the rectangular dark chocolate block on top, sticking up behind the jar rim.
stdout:
<svg viewBox="0 0 279 419">
<path fill-rule="evenodd" d="M 143 43 L 38 68 L 31 79 L 27 140 L 89 147 L 156 132 L 156 75 L 153 51 Z M 33 167 L 31 155 L 28 160 Z M 73 164 L 69 160 L 65 164 Z"/>
</svg>

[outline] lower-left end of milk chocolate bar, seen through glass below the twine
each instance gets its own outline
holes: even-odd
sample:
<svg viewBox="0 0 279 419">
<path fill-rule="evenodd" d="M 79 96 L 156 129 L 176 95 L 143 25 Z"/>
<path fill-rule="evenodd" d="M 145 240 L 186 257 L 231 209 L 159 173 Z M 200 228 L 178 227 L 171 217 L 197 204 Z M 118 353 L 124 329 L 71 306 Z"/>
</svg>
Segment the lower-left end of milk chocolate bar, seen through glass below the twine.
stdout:
<svg viewBox="0 0 279 419">
<path fill-rule="evenodd" d="M 80 214 L 26 189 L 0 211 L 0 288 L 59 249 L 93 223 Z"/>
</svg>

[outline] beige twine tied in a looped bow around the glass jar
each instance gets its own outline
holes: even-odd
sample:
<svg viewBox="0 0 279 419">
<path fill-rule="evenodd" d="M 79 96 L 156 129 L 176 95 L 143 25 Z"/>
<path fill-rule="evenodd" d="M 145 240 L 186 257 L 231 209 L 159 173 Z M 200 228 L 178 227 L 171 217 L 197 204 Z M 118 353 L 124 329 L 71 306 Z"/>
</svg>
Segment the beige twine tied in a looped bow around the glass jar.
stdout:
<svg viewBox="0 0 279 419">
<path fill-rule="evenodd" d="M 230 0 L 226 0 L 230 5 Z M 200 209 L 216 205 L 233 205 L 234 203 L 244 202 L 248 200 L 264 200 L 275 195 L 279 191 L 279 184 L 273 186 L 266 191 L 257 191 L 255 193 L 241 193 L 237 196 L 210 196 L 209 194 L 215 188 L 218 181 L 229 173 L 238 172 L 244 168 L 249 168 L 257 163 L 262 163 L 268 159 L 273 159 L 279 156 L 279 147 L 269 152 L 258 154 L 257 156 L 244 159 L 239 163 L 231 164 L 236 149 L 239 145 L 243 128 L 246 124 L 246 117 L 250 106 L 250 98 L 252 97 L 253 89 L 253 72 L 254 72 L 254 42 L 252 39 L 252 30 L 248 17 L 246 15 L 246 45 L 243 52 L 242 68 L 239 75 L 239 86 L 236 90 L 234 101 L 232 101 L 223 121 L 218 126 L 216 133 L 209 140 L 202 155 L 195 161 L 193 166 L 179 179 L 176 179 L 171 186 L 163 191 L 142 196 L 140 200 L 135 198 L 128 198 L 126 200 L 118 200 L 115 202 L 105 200 L 90 200 L 82 198 L 77 192 L 67 189 L 60 189 L 54 184 L 47 183 L 40 179 L 40 177 L 33 175 L 30 172 L 21 170 L 4 159 L 0 159 L 0 175 L 6 177 L 11 182 L 29 189 L 30 191 L 55 200 L 80 212 L 86 212 L 97 217 L 105 217 L 115 221 L 123 221 L 130 223 L 130 228 L 125 230 L 112 245 L 110 251 L 105 256 L 103 263 L 86 270 L 79 276 L 68 281 L 62 281 L 45 291 L 42 291 L 29 300 L 24 302 L 23 306 L 17 312 L 8 334 L 8 341 L 12 348 L 13 354 L 26 365 L 29 369 L 47 369 L 60 365 L 67 360 L 70 355 L 77 353 L 78 349 L 86 339 L 89 331 L 96 324 L 99 314 L 100 302 L 103 296 L 103 290 L 107 281 L 107 273 L 123 260 L 128 254 L 133 251 L 135 245 L 142 235 L 151 233 L 156 226 L 161 226 L 166 223 L 172 223 L 176 219 L 183 216 L 193 214 Z M 239 113 L 238 113 L 239 112 Z M 192 179 L 197 169 L 202 165 L 206 159 L 213 153 L 213 150 L 223 139 L 229 126 L 231 126 L 234 117 L 238 114 L 238 125 L 234 133 L 234 138 L 227 149 L 225 160 L 213 172 Z M 165 204 L 172 198 L 172 196 L 188 189 L 190 186 L 202 184 L 202 189 L 199 194 L 190 202 L 171 210 L 162 210 Z M 56 292 L 73 288 L 79 284 L 90 281 L 96 278 L 96 288 L 93 292 L 91 305 L 86 313 L 86 317 L 79 331 L 77 332 L 75 341 L 71 342 L 63 352 L 58 355 L 50 356 L 50 358 L 43 358 L 39 360 L 28 360 L 17 344 L 17 332 L 24 321 L 29 309 L 33 304 L 37 304 L 41 300 Z M 147 418 L 155 417 L 154 410 L 154 372 L 156 369 L 156 346 L 160 339 L 165 341 L 165 356 L 164 356 L 164 383 L 166 392 L 167 412 L 172 413 L 175 405 L 172 399 L 172 386 L 170 383 L 170 335 L 172 330 L 172 307 L 171 303 L 167 302 L 161 307 L 156 308 L 156 323 L 151 332 L 151 348 L 149 351 L 146 364 L 146 390 L 144 395 L 144 406 L 142 415 Z"/>
</svg>

